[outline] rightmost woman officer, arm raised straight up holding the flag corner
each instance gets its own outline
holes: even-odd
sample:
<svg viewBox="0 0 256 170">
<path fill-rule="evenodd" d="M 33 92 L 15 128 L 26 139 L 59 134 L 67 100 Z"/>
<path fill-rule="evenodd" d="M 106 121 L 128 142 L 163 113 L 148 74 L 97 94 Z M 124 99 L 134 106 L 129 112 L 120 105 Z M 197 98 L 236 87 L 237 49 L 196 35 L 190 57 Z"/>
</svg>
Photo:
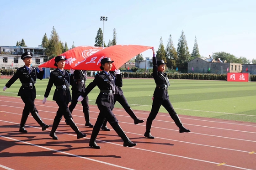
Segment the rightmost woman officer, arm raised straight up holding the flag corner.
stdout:
<svg viewBox="0 0 256 170">
<path fill-rule="evenodd" d="M 180 129 L 180 133 L 190 132 L 189 129 L 184 128 L 184 126 L 182 125 L 178 114 L 175 112 L 169 100 L 168 86 L 170 86 L 170 82 L 168 77 L 166 77 L 166 73 L 164 73 L 165 64 L 166 63 L 163 60 L 156 61 L 155 49 L 153 49 L 153 74 L 152 75 L 156 83 L 156 88 L 152 98 L 153 104 L 152 104 L 151 112 L 149 113 L 149 117 L 147 118 L 146 132 L 144 134 L 144 136 L 149 139 L 154 139 L 154 136 L 150 134 L 150 129 L 151 129 L 152 122 L 155 119 L 161 105 L 163 105 L 164 108 L 168 111 L 171 118 L 173 119 L 177 127 Z"/>
</svg>

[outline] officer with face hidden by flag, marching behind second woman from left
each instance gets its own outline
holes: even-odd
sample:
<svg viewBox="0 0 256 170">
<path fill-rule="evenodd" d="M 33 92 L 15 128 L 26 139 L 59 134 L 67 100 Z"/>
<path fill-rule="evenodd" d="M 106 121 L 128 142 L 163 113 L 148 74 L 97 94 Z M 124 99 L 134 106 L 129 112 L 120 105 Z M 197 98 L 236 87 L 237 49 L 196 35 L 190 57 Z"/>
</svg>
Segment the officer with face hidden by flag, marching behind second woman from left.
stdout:
<svg viewBox="0 0 256 170">
<path fill-rule="evenodd" d="M 71 104 L 69 105 L 70 113 L 72 113 L 77 104 L 77 99 L 82 94 L 82 92 L 85 92 L 85 81 L 87 80 L 87 73 L 83 70 L 74 71 L 73 69 L 70 70 L 70 73 L 71 75 L 73 73 L 73 82 L 71 83 L 72 101 L 71 101 Z M 83 112 L 85 115 L 85 126 L 93 128 L 93 125 L 90 123 L 88 96 L 85 96 L 84 100 L 82 100 L 81 103 L 82 103 Z"/>
</svg>

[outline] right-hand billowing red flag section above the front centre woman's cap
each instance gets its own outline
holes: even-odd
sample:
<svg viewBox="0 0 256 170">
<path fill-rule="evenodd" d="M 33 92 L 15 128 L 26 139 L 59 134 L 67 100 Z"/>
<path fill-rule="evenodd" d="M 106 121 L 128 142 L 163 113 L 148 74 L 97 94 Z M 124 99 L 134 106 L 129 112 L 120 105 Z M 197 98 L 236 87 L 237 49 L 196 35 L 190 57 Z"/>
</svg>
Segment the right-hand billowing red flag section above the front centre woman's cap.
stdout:
<svg viewBox="0 0 256 170">
<path fill-rule="evenodd" d="M 139 45 L 115 45 L 104 48 L 103 50 L 92 54 L 90 57 L 84 59 L 73 69 L 76 70 L 91 70 L 99 71 L 101 66 L 101 59 L 110 57 L 113 62 L 112 70 L 120 68 L 125 62 L 128 62 L 134 56 L 144 52 L 152 46 Z"/>
</svg>

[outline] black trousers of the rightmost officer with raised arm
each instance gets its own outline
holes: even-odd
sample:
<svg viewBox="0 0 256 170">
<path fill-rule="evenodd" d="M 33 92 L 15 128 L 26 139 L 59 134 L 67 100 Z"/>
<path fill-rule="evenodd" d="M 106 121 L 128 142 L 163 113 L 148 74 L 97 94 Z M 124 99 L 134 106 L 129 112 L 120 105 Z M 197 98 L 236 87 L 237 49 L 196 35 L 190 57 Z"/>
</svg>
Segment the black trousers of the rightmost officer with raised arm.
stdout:
<svg viewBox="0 0 256 170">
<path fill-rule="evenodd" d="M 171 118 L 174 120 L 177 127 L 182 128 L 183 125 L 181 123 L 181 120 L 179 119 L 177 113 L 175 112 L 171 102 L 169 99 L 164 100 L 162 98 L 154 98 L 151 111 L 149 113 L 149 117 L 147 118 L 147 122 L 151 122 L 155 119 L 157 113 L 159 112 L 159 109 L 161 105 L 167 110 L 167 112 L 170 114 Z M 151 125 L 150 125 L 151 126 Z"/>
</svg>

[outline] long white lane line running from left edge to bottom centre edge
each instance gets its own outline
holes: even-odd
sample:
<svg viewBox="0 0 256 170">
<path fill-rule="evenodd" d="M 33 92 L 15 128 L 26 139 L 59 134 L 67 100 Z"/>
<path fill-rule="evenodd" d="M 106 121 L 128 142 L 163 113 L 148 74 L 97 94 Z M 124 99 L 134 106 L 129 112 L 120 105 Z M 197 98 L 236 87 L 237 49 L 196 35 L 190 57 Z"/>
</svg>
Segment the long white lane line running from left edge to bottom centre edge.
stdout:
<svg viewBox="0 0 256 170">
<path fill-rule="evenodd" d="M 82 158 L 82 159 L 85 159 L 85 160 L 91 160 L 91 161 L 94 161 L 94 162 L 97 162 L 97 163 L 101 163 L 101 164 L 105 164 L 105 165 L 115 166 L 115 167 L 122 168 L 122 169 L 125 169 L 125 170 L 133 170 L 133 169 L 131 169 L 131 168 L 127 168 L 127 167 L 124 167 L 124 166 L 119 166 L 119 165 L 115 165 L 115 164 L 103 162 L 103 161 L 100 161 L 100 160 L 94 160 L 94 159 L 86 158 L 86 157 L 79 156 L 79 155 L 69 154 L 69 153 L 67 153 L 67 152 L 63 152 L 63 151 L 59 151 L 59 150 L 47 148 L 47 147 L 44 147 L 44 146 L 39 146 L 39 145 L 37 145 L 37 144 L 31 144 L 31 143 L 29 143 L 29 142 L 24 142 L 24 141 L 22 141 L 22 140 L 13 139 L 13 138 L 6 137 L 6 136 L 2 136 L 2 135 L 0 135 L 0 137 L 6 138 L 6 139 L 10 139 L 10 140 L 14 140 L 14 141 L 17 141 L 17 142 L 21 142 L 21 143 L 24 143 L 24 144 L 29 144 L 29 145 L 36 146 L 36 147 L 39 147 L 39 148 L 51 150 L 51 151 L 54 151 L 54 152 L 59 152 L 59 153 L 61 153 L 61 154 L 70 155 L 70 156 Z"/>
</svg>

